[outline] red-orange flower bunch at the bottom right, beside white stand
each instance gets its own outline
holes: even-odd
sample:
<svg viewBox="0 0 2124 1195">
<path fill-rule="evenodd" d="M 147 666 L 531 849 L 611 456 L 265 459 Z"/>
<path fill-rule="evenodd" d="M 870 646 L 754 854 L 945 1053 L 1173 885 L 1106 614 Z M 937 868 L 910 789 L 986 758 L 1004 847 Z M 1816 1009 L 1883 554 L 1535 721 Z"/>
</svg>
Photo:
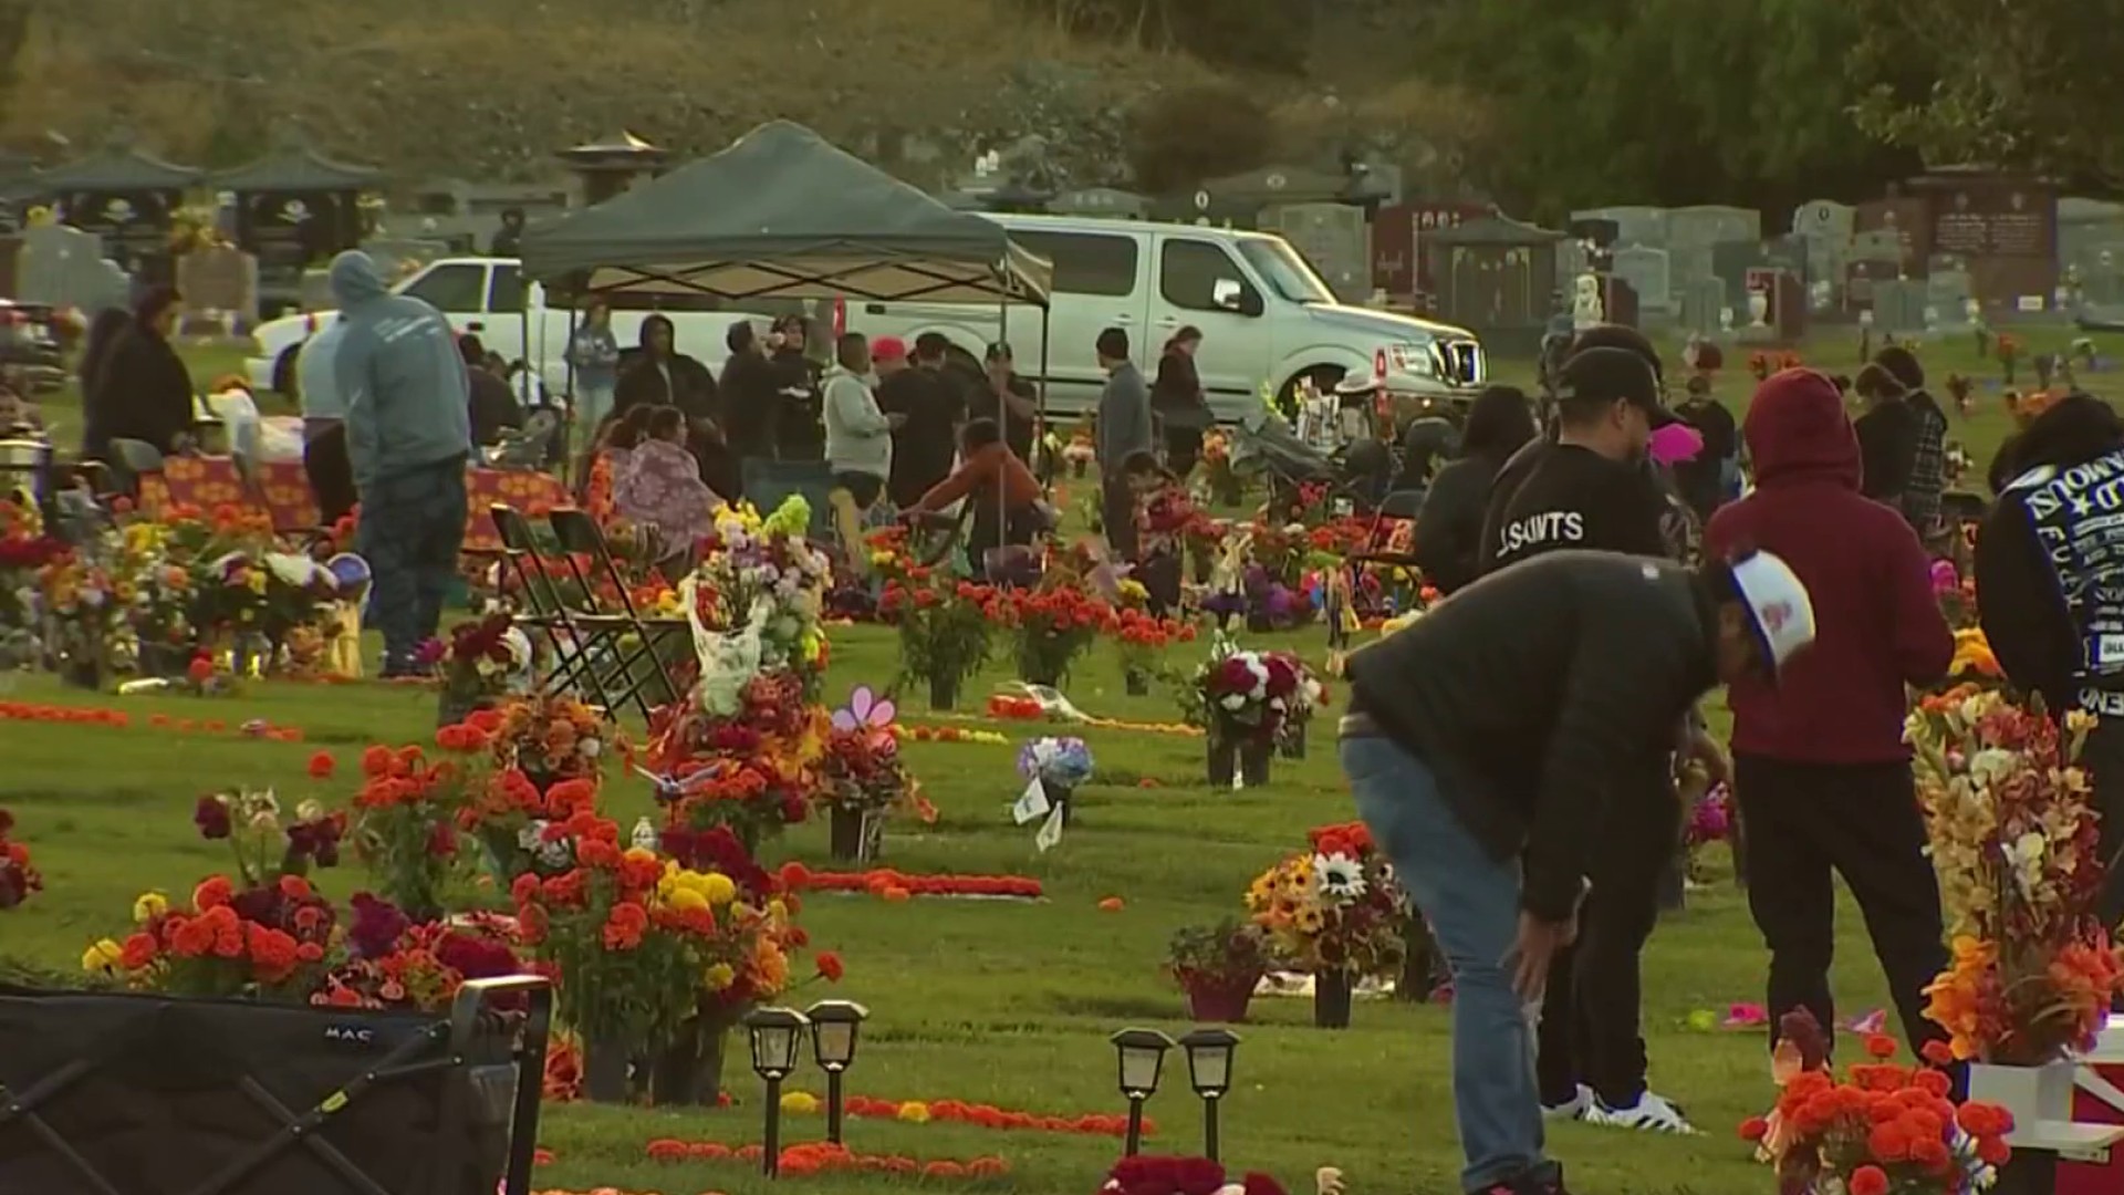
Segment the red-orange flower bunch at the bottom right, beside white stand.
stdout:
<svg viewBox="0 0 2124 1195">
<path fill-rule="evenodd" d="M 1956 1106 L 1952 1082 L 1929 1065 L 1895 1063 L 1895 1038 L 1869 1033 L 1867 1061 L 1842 1082 L 1829 1042 L 1805 1010 L 1784 1016 L 1771 1061 L 1778 1106 L 1742 1121 L 1757 1161 L 1791 1195 L 1975 1195 L 2011 1157 L 2014 1116 L 1997 1104 Z"/>
</svg>

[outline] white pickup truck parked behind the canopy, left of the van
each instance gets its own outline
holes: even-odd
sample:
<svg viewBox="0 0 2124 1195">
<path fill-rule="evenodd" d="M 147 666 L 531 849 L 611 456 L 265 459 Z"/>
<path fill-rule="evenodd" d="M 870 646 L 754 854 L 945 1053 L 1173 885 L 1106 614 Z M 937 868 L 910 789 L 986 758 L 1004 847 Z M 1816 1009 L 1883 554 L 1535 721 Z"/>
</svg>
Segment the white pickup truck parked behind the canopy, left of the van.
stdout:
<svg viewBox="0 0 2124 1195">
<path fill-rule="evenodd" d="M 416 274 L 391 287 L 427 300 L 450 317 L 450 327 L 476 334 L 491 351 L 508 359 L 531 361 L 550 393 L 567 393 L 567 340 L 582 315 L 546 306 L 546 287 L 529 283 L 514 257 L 440 257 Z M 720 306 L 707 296 L 699 300 L 661 300 L 656 308 L 641 302 L 614 300 L 612 334 L 620 349 L 633 349 L 648 315 L 671 319 L 678 351 L 722 372 L 729 357 L 724 336 L 739 319 L 752 319 L 767 332 L 765 315 L 743 310 L 703 310 Z M 329 310 L 285 315 L 261 323 L 253 338 L 259 353 L 244 361 L 251 387 L 259 393 L 295 393 L 295 353 L 304 340 L 325 327 Z"/>
</svg>

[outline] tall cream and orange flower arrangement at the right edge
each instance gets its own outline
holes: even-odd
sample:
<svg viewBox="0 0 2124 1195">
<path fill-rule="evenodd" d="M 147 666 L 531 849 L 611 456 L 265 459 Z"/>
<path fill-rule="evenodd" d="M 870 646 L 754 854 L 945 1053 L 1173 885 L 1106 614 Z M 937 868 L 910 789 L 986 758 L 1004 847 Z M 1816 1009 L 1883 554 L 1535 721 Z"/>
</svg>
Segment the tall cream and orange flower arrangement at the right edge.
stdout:
<svg viewBox="0 0 2124 1195">
<path fill-rule="evenodd" d="M 1905 727 L 1954 938 L 1926 1016 L 1956 1059 L 2041 1065 L 2090 1048 L 2124 987 L 2094 916 L 2096 814 L 2073 763 L 2088 727 L 1997 691 L 1926 697 Z"/>
</svg>

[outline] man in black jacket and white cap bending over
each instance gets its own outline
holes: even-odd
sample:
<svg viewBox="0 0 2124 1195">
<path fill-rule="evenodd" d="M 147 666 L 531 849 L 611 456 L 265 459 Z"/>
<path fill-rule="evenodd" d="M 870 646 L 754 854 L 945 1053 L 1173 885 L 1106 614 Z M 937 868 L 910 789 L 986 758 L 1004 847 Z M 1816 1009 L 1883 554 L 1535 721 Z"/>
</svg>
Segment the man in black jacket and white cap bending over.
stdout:
<svg viewBox="0 0 2124 1195">
<path fill-rule="evenodd" d="M 1714 683 L 1814 638 L 1754 553 L 1701 572 L 1561 551 L 1485 576 L 1349 659 L 1342 772 L 1453 967 L 1453 1101 L 1472 1195 L 1563 1195 L 1534 1016 L 1616 840 L 1672 819 L 1642 761 Z M 1663 800 L 1665 797 L 1665 800 Z"/>
</svg>

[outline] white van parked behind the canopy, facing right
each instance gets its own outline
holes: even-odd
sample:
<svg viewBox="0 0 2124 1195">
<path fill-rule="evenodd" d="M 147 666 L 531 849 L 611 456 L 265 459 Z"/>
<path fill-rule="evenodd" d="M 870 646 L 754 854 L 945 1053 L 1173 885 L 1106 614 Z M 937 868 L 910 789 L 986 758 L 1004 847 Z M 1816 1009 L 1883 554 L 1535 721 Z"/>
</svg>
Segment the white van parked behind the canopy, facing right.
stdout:
<svg viewBox="0 0 2124 1195">
<path fill-rule="evenodd" d="M 1483 347 L 1444 323 L 1336 300 L 1287 240 L 1185 223 L 988 215 L 1011 240 L 1056 266 L 1047 319 L 1047 406 L 1098 404 L 1104 374 L 1092 344 L 1121 327 L 1149 376 L 1166 338 L 1202 330 L 1196 368 L 1211 410 L 1236 421 L 1260 406 L 1262 383 L 1279 393 L 1311 376 L 1332 387 L 1349 372 L 1383 372 L 1391 389 L 1449 398 L 1487 381 Z M 1007 319 L 1007 325 L 1005 325 Z M 847 327 L 869 336 L 943 332 L 975 357 L 1009 340 L 1017 372 L 1041 374 L 1041 310 L 926 302 L 847 302 Z"/>
</svg>

